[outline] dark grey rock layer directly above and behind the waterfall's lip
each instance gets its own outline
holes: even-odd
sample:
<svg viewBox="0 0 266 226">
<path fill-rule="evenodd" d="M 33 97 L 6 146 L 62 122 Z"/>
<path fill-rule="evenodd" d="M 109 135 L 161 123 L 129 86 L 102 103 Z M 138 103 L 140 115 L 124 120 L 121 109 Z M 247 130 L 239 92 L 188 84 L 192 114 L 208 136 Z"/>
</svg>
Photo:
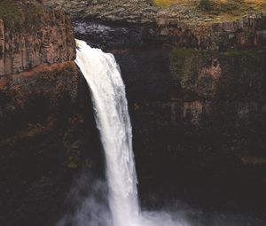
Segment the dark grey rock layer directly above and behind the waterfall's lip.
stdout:
<svg viewBox="0 0 266 226">
<path fill-rule="evenodd" d="M 158 44 L 154 38 L 153 25 L 128 24 L 119 25 L 93 20 L 77 20 L 74 22 L 76 37 L 102 50 L 137 49 L 145 45 Z"/>
</svg>

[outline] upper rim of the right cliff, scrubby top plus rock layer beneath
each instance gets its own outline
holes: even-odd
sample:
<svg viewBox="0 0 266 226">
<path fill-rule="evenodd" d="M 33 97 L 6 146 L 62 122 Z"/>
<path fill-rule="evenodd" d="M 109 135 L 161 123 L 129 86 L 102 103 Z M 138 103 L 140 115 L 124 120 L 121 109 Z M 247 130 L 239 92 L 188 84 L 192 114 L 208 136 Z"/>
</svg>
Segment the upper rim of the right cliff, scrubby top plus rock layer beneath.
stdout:
<svg viewBox="0 0 266 226">
<path fill-rule="evenodd" d="M 161 2 L 176 4 L 165 6 Z M 184 3 L 178 0 L 115 0 L 112 4 L 101 0 L 44 0 L 44 4 L 64 9 L 72 15 L 79 27 L 76 29 L 78 36 L 84 37 L 84 33 L 98 36 L 98 46 L 102 43 L 99 47 L 103 49 L 109 49 L 106 43 L 111 41 L 113 45 L 115 39 L 119 44 L 114 48 L 136 47 L 136 43 L 137 47 L 143 46 L 150 44 L 151 40 L 200 50 L 264 47 L 266 5 L 238 0 L 228 4 L 220 2 L 204 8 L 194 0 Z M 133 27 L 134 32 L 129 27 Z"/>
</svg>

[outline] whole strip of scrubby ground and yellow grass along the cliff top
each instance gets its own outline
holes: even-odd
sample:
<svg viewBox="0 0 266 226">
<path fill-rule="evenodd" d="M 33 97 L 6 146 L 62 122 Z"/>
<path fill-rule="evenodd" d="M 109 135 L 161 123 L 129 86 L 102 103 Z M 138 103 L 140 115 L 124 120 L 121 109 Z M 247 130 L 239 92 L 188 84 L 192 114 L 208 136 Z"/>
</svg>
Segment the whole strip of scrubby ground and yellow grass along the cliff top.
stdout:
<svg viewBox="0 0 266 226">
<path fill-rule="evenodd" d="M 133 23 L 153 22 L 164 17 L 198 25 L 266 13 L 265 0 L 43 0 L 43 3 L 63 8 L 74 18 Z"/>
</svg>

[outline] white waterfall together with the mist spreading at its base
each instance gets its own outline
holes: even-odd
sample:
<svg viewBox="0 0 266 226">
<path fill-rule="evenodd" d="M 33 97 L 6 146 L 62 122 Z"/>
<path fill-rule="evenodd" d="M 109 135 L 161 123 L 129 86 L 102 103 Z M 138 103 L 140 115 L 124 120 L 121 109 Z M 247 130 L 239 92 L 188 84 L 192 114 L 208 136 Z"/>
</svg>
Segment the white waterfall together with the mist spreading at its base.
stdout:
<svg viewBox="0 0 266 226">
<path fill-rule="evenodd" d="M 105 205 L 98 203 L 93 197 L 91 198 L 91 195 L 94 196 L 95 191 L 101 191 L 102 185 L 97 183 L 95 188 L 90 191 L 91 194 L 83 200 L 82 206 L 78 208 L 74 216 L 66 214 L 57 225 L 243 225 L 235 222 L 234 218 L 227 221 L 224 215 L 222 218 L 220 216 L 211 217 L 209 224 L 201 223 L 199 218 L 197 218 L 197 214 L 192 209 L 179 209 L 174 212 L 140 211 L 137 199 L 137 175 L 132 152 L 132 130 L 120 68 L 112 54 L 90 48 L 83 41 L 76 40 L 76 44 L 77 58 L 75 62 L 80 67 L 82 74 L 89 84 L 95 110 L 95 119 L 106 154 L 108 203 L 112 217 L 109 211 L 106 211 Z M 80 186 L 86 187 L 86 183 L 81 183 Z M 110 222 L 110 218 L 113 219 L 113 222 Z M 247 222 L 245 225 L 250 224 Z"/>
</svg>

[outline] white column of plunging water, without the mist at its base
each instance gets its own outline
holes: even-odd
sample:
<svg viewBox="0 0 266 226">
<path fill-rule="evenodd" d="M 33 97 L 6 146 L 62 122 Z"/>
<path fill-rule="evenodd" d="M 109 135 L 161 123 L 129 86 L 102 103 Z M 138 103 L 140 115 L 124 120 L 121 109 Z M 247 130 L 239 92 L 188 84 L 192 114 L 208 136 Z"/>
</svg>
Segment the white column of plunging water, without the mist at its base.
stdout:
<svg viewBox="0 0 266 226">
<path fill-rule="evenodd" d="M 92 96 L 95 119 L 106 154 L 109 206 L 114 226 L 137 225 L 137 175 L 125 86 L 112 54 L 76 40 L 76 64 Z"/>
</svg>

